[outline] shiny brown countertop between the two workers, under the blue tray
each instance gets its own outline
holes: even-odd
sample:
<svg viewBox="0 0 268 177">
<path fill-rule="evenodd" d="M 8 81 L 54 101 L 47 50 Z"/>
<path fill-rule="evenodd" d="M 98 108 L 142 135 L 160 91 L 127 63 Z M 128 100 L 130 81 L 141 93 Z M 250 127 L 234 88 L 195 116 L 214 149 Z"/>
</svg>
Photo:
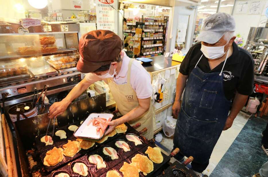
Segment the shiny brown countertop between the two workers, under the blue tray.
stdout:
<svg viewBox="0 0 268 177">
<path fill-rule="evenodd" d="M 143 63 L 142 66 L 148 72 L 155 72 L 158 70 L 162 70 L 164 68 L 169 68 L 171 66 L 175 66 L 180 64 L 180 62 L 173 61 L 170 57 L 165 58 L 164 55 L 151 57 L 153 61 L 151 63 Z"/>
</svg>

